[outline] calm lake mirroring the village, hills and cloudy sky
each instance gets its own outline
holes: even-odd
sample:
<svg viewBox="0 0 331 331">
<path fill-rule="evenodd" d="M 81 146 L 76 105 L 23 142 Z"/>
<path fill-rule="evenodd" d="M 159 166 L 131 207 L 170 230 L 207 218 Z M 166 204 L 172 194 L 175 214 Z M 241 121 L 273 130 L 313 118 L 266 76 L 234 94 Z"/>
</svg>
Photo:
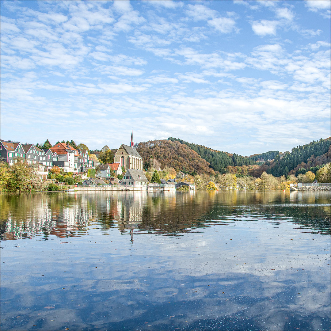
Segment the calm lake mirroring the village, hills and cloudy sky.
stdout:
<svg viewBox="0 0 331 331">
<path fill-rule="evenodd" d="M 330 330 L 330 192 L 0 199 L 1 330 Z"/>
</svg>

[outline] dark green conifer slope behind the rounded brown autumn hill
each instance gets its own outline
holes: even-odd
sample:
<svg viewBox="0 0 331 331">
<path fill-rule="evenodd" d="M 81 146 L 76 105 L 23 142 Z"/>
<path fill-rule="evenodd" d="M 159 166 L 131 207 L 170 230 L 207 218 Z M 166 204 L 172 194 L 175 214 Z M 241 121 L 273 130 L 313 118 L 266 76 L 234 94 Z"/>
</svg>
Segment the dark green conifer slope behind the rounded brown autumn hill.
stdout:
<svg viewBox="0 0 331 331">
<path fill-rule="evenodd" d="M 248 165 L 261 165 L 257 162 L 259 156 L 255 155 L 253 157 L 244 157 L 238 154 L 229 154 L 226 152 L 220 152 L 212 150 L 206 146 L 191 144 L 187 141 L 177 138 L 168 138 L 169 141 L 178 141 L 181 144 L 185 144 L 190 147 L 193 151 L 197 152 L 204 160 L 210 163 L 210 166 L 220 173 L 224 173 L 227 166 L 248 166 Z M 268 152 L 271 153 L 271 152 Z M 264 153 L 267 154 L 267 153 Z"/>
</svg>

